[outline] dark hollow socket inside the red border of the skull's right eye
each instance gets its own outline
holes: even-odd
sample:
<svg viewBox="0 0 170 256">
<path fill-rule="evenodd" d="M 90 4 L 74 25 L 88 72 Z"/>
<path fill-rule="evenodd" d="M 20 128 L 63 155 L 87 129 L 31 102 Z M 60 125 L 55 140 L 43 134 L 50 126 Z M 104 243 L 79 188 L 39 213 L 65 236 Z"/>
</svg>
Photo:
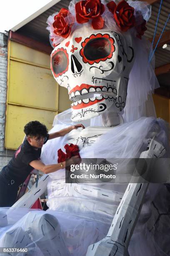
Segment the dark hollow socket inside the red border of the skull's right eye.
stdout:
<svg viewBox="0 0 170 256">
<path fill-rule="evenodd" d="M 84 55 L 89 61 L 106 58 L 110 51 L 111 44 L 107 38 L 91 39 L 84 47 Z"/>
</svg>

